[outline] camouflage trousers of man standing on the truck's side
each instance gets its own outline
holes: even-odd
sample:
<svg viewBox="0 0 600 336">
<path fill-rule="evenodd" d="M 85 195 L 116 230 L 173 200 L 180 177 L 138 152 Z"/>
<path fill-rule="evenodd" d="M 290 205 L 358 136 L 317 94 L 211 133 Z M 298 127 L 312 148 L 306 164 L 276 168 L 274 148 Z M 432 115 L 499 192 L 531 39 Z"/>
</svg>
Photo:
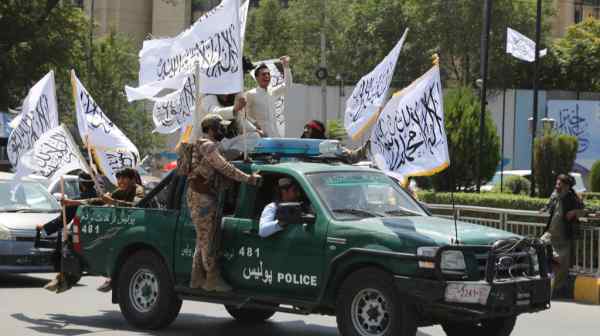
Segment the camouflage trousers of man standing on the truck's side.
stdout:
<svg viewBox="0 0 600 336">
<path fill-rule="evenodd" d="M 209 250 L 209 242 L 215 238 L 217 202 L 213 195 L 200 194 L 191 188 L 187 191 L 187 202 L 192 222 L 196 226 L 196 250 L 192 262 L 192 284 L 194 284 L 203 281 L 206 273 L 218 269 L 216 253 Z"/>
</svg>

